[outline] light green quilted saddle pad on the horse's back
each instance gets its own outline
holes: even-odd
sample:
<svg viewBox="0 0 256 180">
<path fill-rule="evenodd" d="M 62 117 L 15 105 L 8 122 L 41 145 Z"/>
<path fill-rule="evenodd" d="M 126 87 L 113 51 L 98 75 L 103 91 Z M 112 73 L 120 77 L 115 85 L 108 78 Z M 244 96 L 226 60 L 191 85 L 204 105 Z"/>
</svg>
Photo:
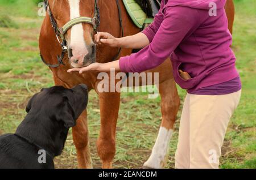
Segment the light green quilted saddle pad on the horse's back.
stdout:
<svg viewBox="0 0 256 180">
<path fill-rule="evenodd" d="M 142 10 L 141 6 L 135 0 L 123 0 L 123 4 L 138 28 L 142 28 L 144 23 L 152 23 L 153 19 L 147 19 L 146 13 Z"/>
</svg>

